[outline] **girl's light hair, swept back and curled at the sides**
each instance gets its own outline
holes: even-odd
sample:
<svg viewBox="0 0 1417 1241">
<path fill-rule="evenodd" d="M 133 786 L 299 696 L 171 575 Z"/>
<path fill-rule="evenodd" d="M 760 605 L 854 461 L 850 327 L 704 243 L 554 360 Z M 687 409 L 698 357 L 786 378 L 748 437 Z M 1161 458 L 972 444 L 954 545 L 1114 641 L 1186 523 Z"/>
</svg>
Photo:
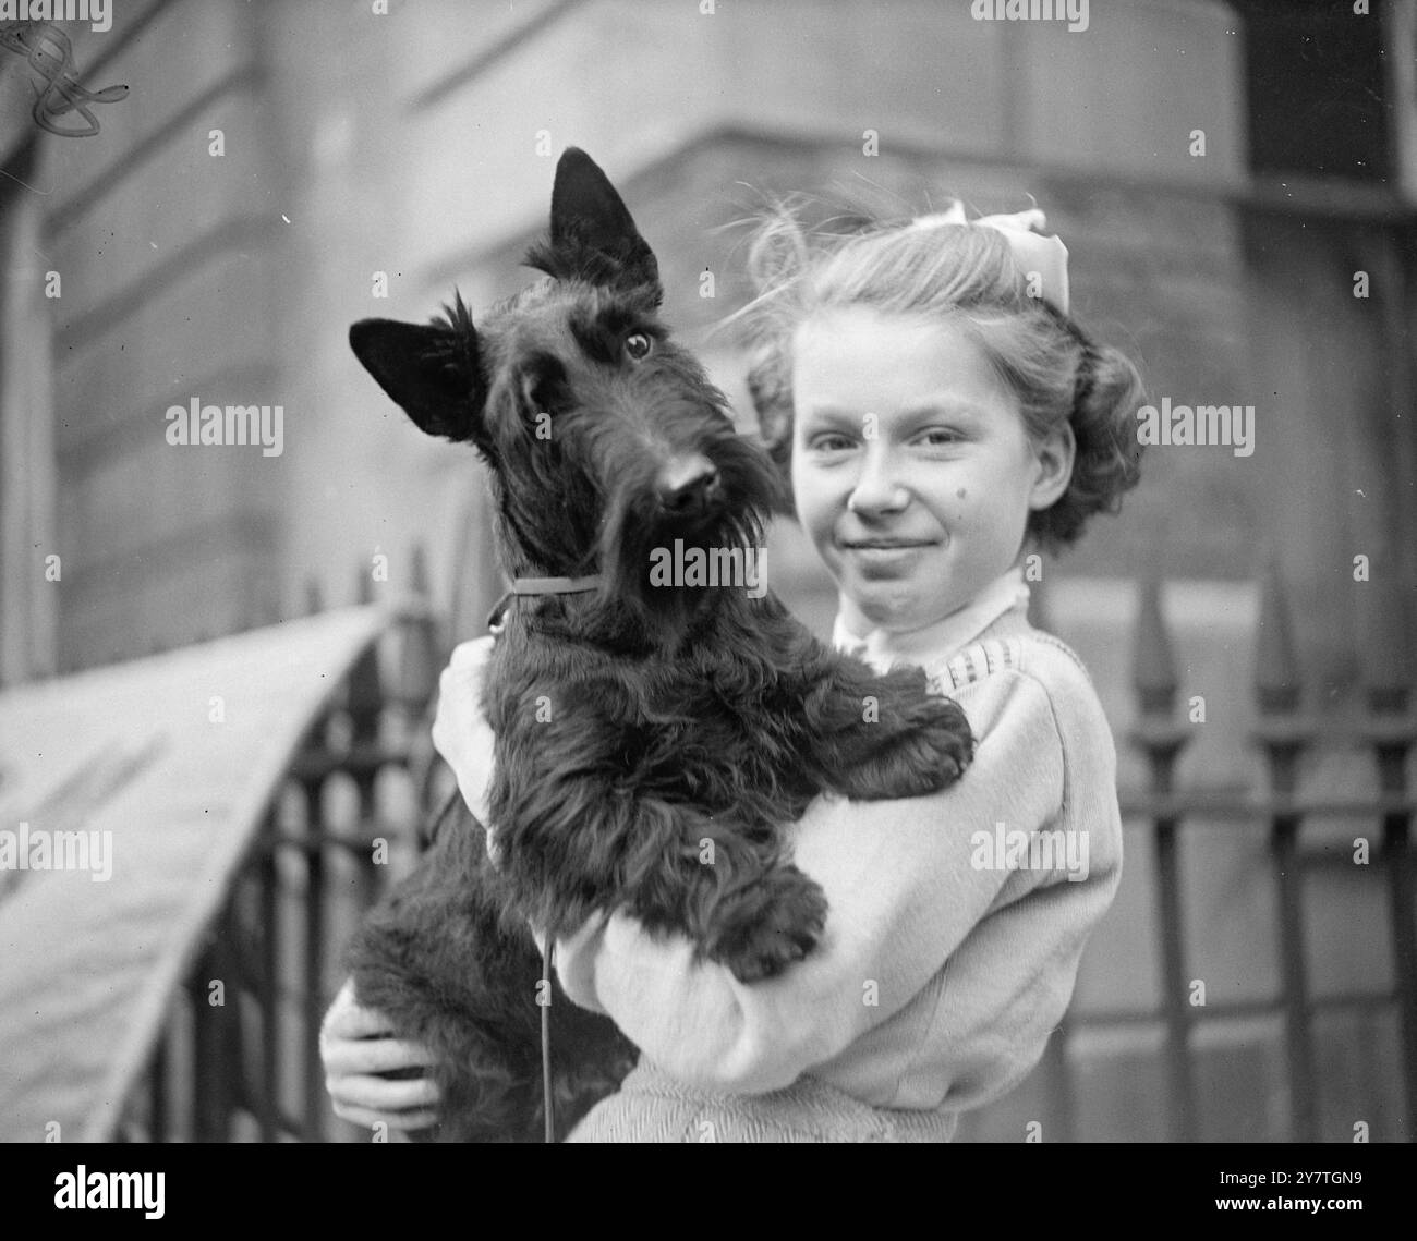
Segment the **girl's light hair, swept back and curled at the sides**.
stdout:
<svg viewBox="0 0 1417 1241">
<path fill-rule="evenodd" d="M 747 327 L 748 388 L 789 489 L 794 334 L 819 312 L 870 306 L 965 332 L 1017 398 L 1034 442 L 1071 425 L 1077 455 L 1068 487 L 1054 504 L 1029 514 L 1027 531 L 1043 548 L 1067 547 L 1094 513 L 1117 511 L 1139 477 L 1141 378 L 1122 353 L 1029 295 L 1026 275 L 998 230 L 871 220 L 840 234 L 808 230 L 801 211 L 801 203 L 779 204 L 758 225 L 748 249 L 755 296 L 726 320 Z"/>
</svg>

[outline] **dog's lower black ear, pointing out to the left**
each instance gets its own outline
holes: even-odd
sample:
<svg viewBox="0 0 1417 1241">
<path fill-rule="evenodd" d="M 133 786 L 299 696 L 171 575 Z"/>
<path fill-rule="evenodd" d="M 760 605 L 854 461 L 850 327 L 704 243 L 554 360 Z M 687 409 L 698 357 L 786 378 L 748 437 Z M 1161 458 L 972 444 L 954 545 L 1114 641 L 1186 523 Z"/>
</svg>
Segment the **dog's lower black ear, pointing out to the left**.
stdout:
<svg viewBox="0 0 1417 1241">
<path fill-rule="evenodd" d="M 478 334 L 461 298 L 446 322 L 361 319 L 350 327 L 350 348 L 419 431 L 480 441 L 486 387 Z"/>
</svg>

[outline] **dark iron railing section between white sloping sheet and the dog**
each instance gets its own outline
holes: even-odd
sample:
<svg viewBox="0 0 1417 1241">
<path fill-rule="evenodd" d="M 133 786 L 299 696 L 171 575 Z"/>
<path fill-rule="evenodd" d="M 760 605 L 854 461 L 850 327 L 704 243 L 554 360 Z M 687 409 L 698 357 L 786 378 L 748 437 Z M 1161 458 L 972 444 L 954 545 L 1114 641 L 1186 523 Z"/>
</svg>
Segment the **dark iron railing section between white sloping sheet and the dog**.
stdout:
<svg viewBox="0 0 1417 1241">
<path fill-rule="evenodd" d="M 359 582 L 359 602 L 368 602 L 367 570 Z M 320 606 L 312 591 L 310 611 Z M 446 660 L 438 630 L 415 551 L 411 601 L 357 660 L 272 796 L 116 1138 L 339 1136 L 319 1046 L 339 953 L 357 918 L 411 864 L 428 806 L 451 788 L 427 740 Z"/>
</svg>

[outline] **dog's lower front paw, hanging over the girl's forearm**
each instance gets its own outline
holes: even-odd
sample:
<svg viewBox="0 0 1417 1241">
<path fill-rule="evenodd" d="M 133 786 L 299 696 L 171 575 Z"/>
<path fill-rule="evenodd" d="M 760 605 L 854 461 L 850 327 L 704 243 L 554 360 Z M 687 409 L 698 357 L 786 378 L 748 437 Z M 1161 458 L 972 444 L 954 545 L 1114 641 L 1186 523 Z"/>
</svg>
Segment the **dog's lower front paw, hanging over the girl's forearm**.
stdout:
<svg viewBox="0 0 1417 1241">
<path fill-rule="evenodd" d="M 795 866 L 782 866 L 714 908 L 703 955 L 727 965 L 738 982 L 757 982 L 806 956 L 825 925 L 826 894 Z"/>
</svg>

